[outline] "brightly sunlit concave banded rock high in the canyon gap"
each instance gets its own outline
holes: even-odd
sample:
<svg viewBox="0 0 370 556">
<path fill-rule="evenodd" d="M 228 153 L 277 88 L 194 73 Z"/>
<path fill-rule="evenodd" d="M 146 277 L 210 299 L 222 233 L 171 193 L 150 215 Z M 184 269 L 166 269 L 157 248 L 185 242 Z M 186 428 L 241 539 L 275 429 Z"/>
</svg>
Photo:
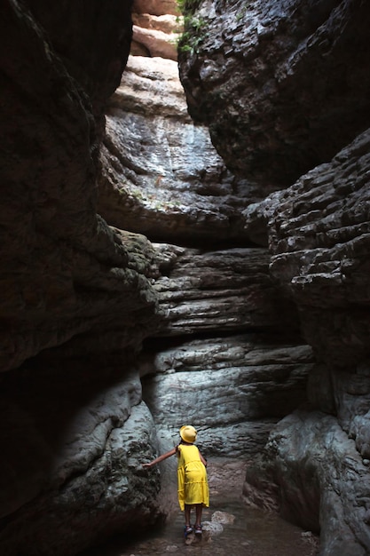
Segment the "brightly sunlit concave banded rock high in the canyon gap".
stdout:
<svg viewBox="0 0 370 556">
<path fill-rule="evenodd" d="M 260 197 L 191 122 L 176 62 L 130 57 L 106 123 L 98 211 L 110 224 L 152 241 L 247 240 L 240 209 Z"/>
</svg>

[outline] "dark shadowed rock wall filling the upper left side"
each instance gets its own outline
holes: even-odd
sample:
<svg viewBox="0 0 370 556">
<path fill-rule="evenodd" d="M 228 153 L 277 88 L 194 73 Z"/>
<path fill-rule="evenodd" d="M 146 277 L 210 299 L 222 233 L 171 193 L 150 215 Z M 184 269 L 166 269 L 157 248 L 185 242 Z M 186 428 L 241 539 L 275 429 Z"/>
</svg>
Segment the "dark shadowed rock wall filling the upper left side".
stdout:
<svg viewBox="0 0 370 556">
<path fill-rule="evenodd" d="M 156 304 L 150 263 L 136 256 L 130 234 L 125 239 L 96 212 L 103 105 L 127 60 L 129 4 L 115 16 L 106 5 L 94 55 L 87 37 L 74 43 L 73 26 L 74 40 L 59 34 L 67 17 L 82 25 L 75 5 L 56 14 L 47 3 L 29 2 L 29 12 L 4 4 L 3 370 L 93 330 L 102 347 L 101 327 L 108 332 L 114 322 L 116 330 L 119 314 L 122 347 L 138 344 L 142 335 L 127 338 L 129 314 L 140 307 L 150 320 Z M 97 11 L 93 3 L 86 16 L 92 34 Z"/>
</svg>

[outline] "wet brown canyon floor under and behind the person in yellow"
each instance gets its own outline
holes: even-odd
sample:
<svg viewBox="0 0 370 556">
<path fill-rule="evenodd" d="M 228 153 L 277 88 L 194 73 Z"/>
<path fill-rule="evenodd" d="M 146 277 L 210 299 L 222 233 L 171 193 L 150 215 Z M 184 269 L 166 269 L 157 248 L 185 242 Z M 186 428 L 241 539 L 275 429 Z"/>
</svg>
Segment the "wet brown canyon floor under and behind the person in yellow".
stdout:
<svg viewBox="0 0 370 556">
<path fill-rule="evenodd" d="M 209 465 L 210 507 L 203 510 L 201 541 L 193 535 L 185 544 L 184 513 L 178 511 L 173 520 L 150 535 L 131 541 L 116 539 L 83 552 L 83 556 L 316 556 L 319 543 L 310 531 L 281 520 L 276 513 L 250 509 L 242 502 L 246 465 L 213 458 Z M 229 519 L 215 525 L 216 517 Z M 220 531 L 207 530 L 212 527 Z"/>
</svg>

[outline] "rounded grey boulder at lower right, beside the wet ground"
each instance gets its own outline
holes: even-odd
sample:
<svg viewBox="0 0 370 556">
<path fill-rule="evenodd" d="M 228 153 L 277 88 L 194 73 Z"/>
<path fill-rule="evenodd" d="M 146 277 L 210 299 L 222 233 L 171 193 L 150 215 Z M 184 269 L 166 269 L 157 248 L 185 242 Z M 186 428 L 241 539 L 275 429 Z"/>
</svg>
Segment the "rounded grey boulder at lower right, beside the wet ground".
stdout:
<svg viewBox="0 0 370 556">
<path fill-rule="evenodd" d="M 300 409 L 275 427 L 262 463 L 248 469 L 244 496 L 270 510 L 279 498 L 283 517 L 321 531 L 320 554 L 365 555 L 368 465 L 335 417 Z"/>
</svg>

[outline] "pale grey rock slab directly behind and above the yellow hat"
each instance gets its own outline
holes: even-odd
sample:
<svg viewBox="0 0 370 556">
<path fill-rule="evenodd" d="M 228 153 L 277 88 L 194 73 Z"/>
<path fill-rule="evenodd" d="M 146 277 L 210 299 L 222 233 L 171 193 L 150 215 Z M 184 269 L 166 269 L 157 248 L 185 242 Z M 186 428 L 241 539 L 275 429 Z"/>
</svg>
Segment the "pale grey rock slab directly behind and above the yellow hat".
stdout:
<svg viewBox="0 0 370 556">
<path fill-rule="evenodd" d="M 143 396 L 172 432 L 192 422 L 209 457 L 253 457 L 276 421 L 306 399 L 307 346 L 272 333 L 178 341 L 140 359 Z M 174 415 L 176 419 L 174 420 Z"/>
</svg>

